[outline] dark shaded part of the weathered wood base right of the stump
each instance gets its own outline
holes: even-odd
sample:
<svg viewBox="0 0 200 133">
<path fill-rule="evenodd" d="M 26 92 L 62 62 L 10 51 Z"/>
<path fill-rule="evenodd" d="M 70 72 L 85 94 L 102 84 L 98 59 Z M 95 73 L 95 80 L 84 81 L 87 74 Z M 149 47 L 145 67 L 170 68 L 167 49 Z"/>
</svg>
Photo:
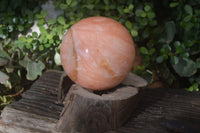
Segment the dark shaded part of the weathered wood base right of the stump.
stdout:
<svg viewBox="0 0 200 133">
<path fill-rule="evenodd" d="M 146 89 L 131 119 L 106 133 L 200 133 L 200 93 Z"/>
</svg>

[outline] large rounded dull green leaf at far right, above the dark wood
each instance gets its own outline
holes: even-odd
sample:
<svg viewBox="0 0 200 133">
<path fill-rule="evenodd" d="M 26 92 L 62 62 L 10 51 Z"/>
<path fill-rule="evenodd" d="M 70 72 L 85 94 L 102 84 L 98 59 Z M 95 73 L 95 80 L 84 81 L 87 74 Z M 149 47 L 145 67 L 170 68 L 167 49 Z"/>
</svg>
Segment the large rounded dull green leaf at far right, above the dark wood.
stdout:
<svg viewBox="0 0 200 133">
<path fill-rule="evenodd" d="M 190 77 L 197 72 L 196 63 L 187 58 L 179 58 L 179 62 L 172 65 L 176 73 L 181 77 Z"/>
</svg>

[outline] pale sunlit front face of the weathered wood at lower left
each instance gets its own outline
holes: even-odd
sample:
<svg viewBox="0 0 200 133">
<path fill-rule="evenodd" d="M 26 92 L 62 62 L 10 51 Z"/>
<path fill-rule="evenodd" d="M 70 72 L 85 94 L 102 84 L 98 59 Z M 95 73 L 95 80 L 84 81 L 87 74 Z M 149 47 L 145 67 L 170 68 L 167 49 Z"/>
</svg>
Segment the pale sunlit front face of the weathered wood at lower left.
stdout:
<svg viewBox="0 0 200 133">
<path fill-rule="evenodd" d="M 5 107 L 1 117 L 0 131 L 3 133 L 40 133 L 45 131 L 55 133 L 57 119 L 54 118 L 21 111 L 12 106 Z"/>
</svg>

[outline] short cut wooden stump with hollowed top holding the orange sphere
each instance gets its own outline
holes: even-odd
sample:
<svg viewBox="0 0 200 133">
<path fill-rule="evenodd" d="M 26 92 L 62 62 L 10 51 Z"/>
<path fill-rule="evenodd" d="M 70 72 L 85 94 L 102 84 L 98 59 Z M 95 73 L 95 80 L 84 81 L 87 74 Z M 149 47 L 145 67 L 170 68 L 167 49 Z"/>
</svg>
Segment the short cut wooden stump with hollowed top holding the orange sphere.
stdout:
<svg viewBox="0 0 200 133">
<path fill-rule="evenodd" d="M 65 99 L 57 123 L 63 133 L 102 133 L 120 127 L 137 104 L 138 89 L 116 88 L 114 92 L 97 95 L 74 84 Z"/>
</svg>

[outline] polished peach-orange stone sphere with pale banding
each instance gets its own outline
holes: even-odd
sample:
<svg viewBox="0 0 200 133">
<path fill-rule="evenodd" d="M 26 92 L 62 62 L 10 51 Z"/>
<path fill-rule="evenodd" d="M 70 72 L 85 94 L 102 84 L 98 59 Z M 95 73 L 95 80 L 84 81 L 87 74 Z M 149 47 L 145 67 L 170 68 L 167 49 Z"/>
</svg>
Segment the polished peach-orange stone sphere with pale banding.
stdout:
<svg viewBox="0 0 200 133">
<path fill-rule="evenodd" d="M 72 81 L 91 90 L 120 84 L 130 72 L 135 47 L 130 33 L 107 17 L 89 17 L 74 24 L 61 44 L 61 62 Z"/>
</svg>

